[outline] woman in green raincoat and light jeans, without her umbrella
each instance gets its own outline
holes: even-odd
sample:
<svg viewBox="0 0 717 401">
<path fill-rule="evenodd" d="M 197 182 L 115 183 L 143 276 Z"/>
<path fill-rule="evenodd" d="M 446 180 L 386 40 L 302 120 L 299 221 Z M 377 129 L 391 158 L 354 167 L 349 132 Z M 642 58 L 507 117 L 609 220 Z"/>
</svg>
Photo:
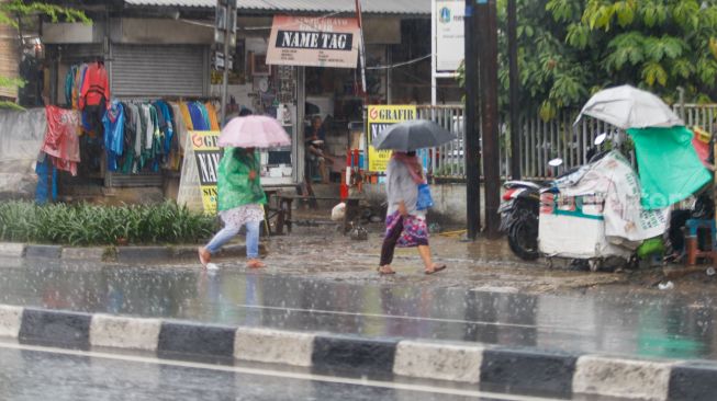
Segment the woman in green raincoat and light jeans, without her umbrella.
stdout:
<svg viewBox="0 0 717 401">
<path fill-rule="evenodd" d="M 247 267 L 265 266 L 259 261 L 259 227 L 264 221 L 262 205 L 267 197 L 261 188 L 259 170 L 259 154 L 254 148 L 224 149 L 217 172 L 217 207 L 224 228 L 206 247 L 199 249 L 199 261 L 204 268 L 212 254 L 239 233 L 242 226 L 246 227 Z"/>
</svg>

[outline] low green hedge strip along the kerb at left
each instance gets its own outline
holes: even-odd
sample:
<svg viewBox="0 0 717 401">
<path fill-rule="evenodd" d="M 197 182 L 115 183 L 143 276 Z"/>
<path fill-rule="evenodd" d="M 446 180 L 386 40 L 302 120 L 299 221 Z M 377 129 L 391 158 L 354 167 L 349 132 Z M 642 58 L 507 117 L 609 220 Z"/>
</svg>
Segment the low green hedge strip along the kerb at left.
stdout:
<svg viewBox="0 0 717 401">
<path fill-rule="evenodd" d="M 176 203 L 139 206 L 0 203 L 0 240 L 69 245 L 194 243 L 216 220 Z"/>
</svg>

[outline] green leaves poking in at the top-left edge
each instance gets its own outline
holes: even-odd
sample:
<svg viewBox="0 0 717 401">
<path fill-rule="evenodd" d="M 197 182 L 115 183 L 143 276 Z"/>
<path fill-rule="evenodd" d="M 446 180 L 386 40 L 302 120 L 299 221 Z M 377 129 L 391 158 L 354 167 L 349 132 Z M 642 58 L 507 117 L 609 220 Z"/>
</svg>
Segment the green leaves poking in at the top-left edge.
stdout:
<svg viewBox="0 0 717 401">
<path fill-rule="evenodd" d="M 22 19 L 36 15 L 46 15 L 52 22 L 90 22 L 85 12 L 68 7 L 42 1 L 0 0 L 0 24 L 18 30 Z M 23 85 L 24 81 L 21 79 L 0 76 L 0 88 L 22 88 Z M 20 106 L 13 102 L 0 101 L 0 107 L 19 108 Z"/>
</svg>

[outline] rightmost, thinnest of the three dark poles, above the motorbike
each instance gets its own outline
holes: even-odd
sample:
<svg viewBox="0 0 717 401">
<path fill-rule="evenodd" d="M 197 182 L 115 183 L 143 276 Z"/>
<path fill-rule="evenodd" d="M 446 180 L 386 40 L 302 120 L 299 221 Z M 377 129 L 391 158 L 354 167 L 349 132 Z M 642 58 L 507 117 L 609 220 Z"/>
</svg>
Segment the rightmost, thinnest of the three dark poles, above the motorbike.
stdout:
<svg viewBox="0 0 717 401">
<path fill-rule="evenodd" d="M 520 180 L 520 79 L 516 0 L 508 0 L 508 81 L 511 84 L 511 179 Z"/>
</svg>

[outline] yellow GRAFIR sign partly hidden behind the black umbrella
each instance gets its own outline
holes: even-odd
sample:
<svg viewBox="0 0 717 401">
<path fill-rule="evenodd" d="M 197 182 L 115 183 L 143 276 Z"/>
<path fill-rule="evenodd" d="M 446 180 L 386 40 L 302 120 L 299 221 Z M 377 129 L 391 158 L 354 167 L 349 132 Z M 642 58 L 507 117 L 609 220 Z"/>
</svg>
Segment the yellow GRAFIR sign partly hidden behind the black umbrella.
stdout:
<svg viewBox="0 0 717 401">
<path fill-rule="evenodd" d="M 383 129 L 408 119 L 416 119 L 415 105 L 370 105 L 368 108 L 369 171 L 384 172 L 391 159 L 391 150 L 377 150 L 373 140 Z"/>
</svg>

